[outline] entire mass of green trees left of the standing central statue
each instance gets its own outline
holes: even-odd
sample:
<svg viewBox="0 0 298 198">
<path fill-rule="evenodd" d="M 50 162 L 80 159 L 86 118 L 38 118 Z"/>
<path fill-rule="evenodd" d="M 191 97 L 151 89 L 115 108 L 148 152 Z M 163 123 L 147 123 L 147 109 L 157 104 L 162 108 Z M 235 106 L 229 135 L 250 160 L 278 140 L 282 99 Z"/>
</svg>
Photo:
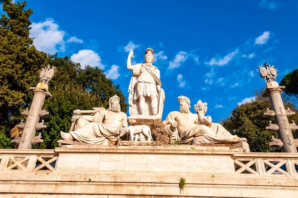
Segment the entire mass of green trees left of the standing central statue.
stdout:
<svg viewBox="0 0 298 198">
<path fill-rule="evenodd" d="M 52 97 L 46 98 L 43 106 L 50 112 L 42 117 L 47 125 L 40 131 L 44 142 L 33 148 L 58 146 L 60 130 L 69 130 L 74 109 L 108 107 L 108 99 L 118 95 L 122 111 L 127 111 L 120 86 L 107 79 L 102 70 L 89 66 L 81 69 L 70 57 L 36 50 L 29 37 L 33 11 L 24 9 L 26 2 L 0 2 L 7 13 L 0 18 L 0 148 L 12 147 L 9 130 L 25 118 L 20 112 L 30 107 L 33 95 L 29 88 L 36 86 L 38 71 L 47 64 L 58 71 L 49 85 Z"/>
</svg>

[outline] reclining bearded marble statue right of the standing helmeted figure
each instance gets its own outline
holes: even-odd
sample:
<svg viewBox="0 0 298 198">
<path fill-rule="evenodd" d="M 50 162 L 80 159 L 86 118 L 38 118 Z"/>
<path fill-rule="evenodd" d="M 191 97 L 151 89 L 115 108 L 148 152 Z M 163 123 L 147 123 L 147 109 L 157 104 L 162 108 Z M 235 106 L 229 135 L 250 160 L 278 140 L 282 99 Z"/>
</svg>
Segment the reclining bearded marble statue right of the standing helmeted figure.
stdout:
<svg viewBox="0 0 298 198">
<path fill-rule="evenodd" d="M 202 137 L 206 143 L 236 143 L 246 141 L 231 135 L 221 124 L 212 122 L 211 116 L 205 116 L 207 103 L 199 100 L 195 104 L 197 114 L 190 112 L 190 100 L 178 97 L 179 111 L 170 112 L 163 121 L 170 139 L 169 143 L 191 144 L 194 138 Z"/>
</svg>

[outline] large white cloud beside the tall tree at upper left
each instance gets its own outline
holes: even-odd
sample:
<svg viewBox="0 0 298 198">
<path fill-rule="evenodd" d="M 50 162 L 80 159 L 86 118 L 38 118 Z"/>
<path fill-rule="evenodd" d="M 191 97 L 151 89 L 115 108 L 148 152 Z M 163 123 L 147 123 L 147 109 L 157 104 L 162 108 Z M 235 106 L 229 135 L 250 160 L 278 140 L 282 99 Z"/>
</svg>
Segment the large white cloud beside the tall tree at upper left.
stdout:
<svg viewBox="0 0 298 198">
<path fill-rule="evenodd" d="M 65 32 L 59 30 L 59 25 L 54 23 L 52 18 L 47 18 L 44 22 L 32 23 L 30 37 L 34 38 L 33 44 L 36 49 L 47 53 L 65 51 Z"/>
</svg>

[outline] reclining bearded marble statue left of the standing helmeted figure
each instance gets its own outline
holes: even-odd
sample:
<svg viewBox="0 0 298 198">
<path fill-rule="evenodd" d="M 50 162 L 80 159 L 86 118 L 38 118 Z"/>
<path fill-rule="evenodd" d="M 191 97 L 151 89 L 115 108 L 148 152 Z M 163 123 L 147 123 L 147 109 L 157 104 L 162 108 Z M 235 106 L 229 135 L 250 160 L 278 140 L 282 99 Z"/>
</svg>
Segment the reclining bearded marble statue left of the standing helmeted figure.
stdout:
<svg viewBox="0 0 298 198">
<path fill-rule="evenodd" d="M 76 120 L 74 131 L 60 131 L 63 140 L 78 141 L 89 144 L 108 145 L 108 141 L 120 140 L 120 128 L 127 127 L 127 115 L 120 111 L 120 99 L 113 96 L 109 99 L 109 108 L 101 109 L 93 115 L 73 116 Z"/>
</svg>

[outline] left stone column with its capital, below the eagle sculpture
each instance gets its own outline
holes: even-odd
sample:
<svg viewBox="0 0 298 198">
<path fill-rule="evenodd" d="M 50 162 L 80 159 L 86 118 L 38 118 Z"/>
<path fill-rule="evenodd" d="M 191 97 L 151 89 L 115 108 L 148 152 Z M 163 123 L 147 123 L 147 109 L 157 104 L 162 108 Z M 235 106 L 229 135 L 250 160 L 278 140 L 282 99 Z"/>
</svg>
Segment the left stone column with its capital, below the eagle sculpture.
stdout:
<svg viewBox="0 0 298 198">
<path fill-rule="evenodd" d="M 46 96 L 50 95 L 48 85 L 38 83 L 37 87 L 30 88 L 33 91 L 34 97 L 27 116 L 27 120 L 23 129 L 22 137 L 18 149 L 31 149 L 31 140 L 35 136 L 35 125 L 39 122 L 39 111 L 45 101 Z"/>
</svg>

